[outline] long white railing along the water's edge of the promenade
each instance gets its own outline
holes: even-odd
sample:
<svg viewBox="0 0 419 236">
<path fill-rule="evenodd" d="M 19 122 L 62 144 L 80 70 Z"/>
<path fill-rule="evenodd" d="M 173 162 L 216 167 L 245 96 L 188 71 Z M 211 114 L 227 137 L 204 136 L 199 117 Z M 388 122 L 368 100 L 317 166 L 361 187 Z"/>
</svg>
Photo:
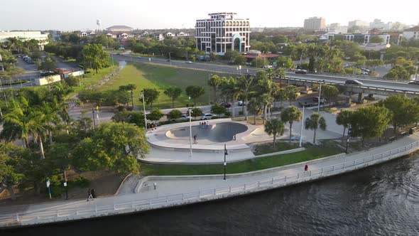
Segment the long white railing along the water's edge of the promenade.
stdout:
<svg viewBox="0 0 419 236">
<path fill-rule="evenodd" d="M 413 147 L 419 146 L 419 141 L 415 141 L 412 144 L 403 146 L 398 149 L 383 152 L 381 154 L 375 154 L 362 159 L 355 159 L 352 161 L 344 161 L 333 166 L 327 166 L 323 168 L 312 169 L 311 171 L 303 171 L 295 173 L 293 175 L 281 176 L 276 178 L 268 178 L 262 181 L 254 181 L 249 183 L 241 183 L 233 186 L 226 186 L 222 188 L 212 188 L 201 191 L 194 191 L 190 193 L 179 193 L 175 195 L 166 195 L 157 198 L 148 198 L 143 200 L 129 200 L 114 202 L 109 205 L 90 205 L 82 208 L 60 208 L 58 210 L 37 210 L 28 211 L 25 213 L 15 213 L 0 215 L 0 227 L 7 225 L 19 225 L 22 222 L 48 222 L 48 219 L 53 218 L 77 218 L 77 215 L 81 217 L 87 217 L 89 215 L 99 216 L 107 214 L 117 214 L 120 211 L 133 212 L 138 210 L 146 210 L 151 208 L 158 208 L 170 205 L 180 205 L 182 203 L 190 203 L 194 200 L 200 200 L 201 198 L 212 198 L 217 195 L 229 195 L 231 193 L 242 193 L 244 191 L 257 191 L 258 189 L 266 189 L 273 187 L 285 186 L 288 183 L 299 183 L 312 179 L 312 177 L 332 176 L 333 174 L 344 172 L 343 170 L 350 169 L 354 170 L 360 167 L 369 166 L 374 161 L 379 161 L 391 157 L 391 155 L 399 154 Z M 80 217 L 80 218 L 81 218 Z M 59 220 L 58 220 L 59 221 Z"/>
</svg>

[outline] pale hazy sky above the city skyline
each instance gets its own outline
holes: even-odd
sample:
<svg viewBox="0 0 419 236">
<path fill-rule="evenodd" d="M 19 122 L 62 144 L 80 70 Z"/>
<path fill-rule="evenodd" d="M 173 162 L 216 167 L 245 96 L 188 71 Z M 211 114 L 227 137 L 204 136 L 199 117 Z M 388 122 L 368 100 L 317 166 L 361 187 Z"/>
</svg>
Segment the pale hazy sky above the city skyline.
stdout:
<svg viewBox="0 0 419 236">
<path fill-rule="evenodd" d="M 246 4 L 250 2 L 251 4 Z M 133 28 L 192 28 L 196 19 L 215 12 L 236 12 L 252 27 L 303 26 L 305 18 L 322 16 L 326 23 L 359 19 L 418 24 L 419 1 L 389 4 L 377 0 L 197 1 L 197 0 L 15 0 L 1 1 L 0 30 L 72 30 L 126 25 Z"/>
</svg>

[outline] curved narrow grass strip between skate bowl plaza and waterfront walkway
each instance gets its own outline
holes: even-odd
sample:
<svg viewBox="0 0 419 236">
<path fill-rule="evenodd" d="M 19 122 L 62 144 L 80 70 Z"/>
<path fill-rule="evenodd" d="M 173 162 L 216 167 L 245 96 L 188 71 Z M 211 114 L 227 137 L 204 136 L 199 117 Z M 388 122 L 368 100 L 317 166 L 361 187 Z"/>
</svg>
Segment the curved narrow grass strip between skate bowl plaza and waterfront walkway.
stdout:
<svg viewBox="0 0 419 236">
<path fill-rule="evenodd" d="M 251 159 L 235 163 L 227 163 L 227 173 L 244 173 L 259 171 L 266 168 L 285 166 L 303 161 L 320 159 L 325 156 L 332 156 L 342 153 L 336 144 L 322 144 L 310 146 L 305 151 L 293 154 L 268 156 L 259 159 Z M 224 168 L 218 165 L 156 165 L 141 163 L 141 173 L 144 176 L 185 176 L 185 175 L 208 175 L 222 174 Z"/>
</svg>

